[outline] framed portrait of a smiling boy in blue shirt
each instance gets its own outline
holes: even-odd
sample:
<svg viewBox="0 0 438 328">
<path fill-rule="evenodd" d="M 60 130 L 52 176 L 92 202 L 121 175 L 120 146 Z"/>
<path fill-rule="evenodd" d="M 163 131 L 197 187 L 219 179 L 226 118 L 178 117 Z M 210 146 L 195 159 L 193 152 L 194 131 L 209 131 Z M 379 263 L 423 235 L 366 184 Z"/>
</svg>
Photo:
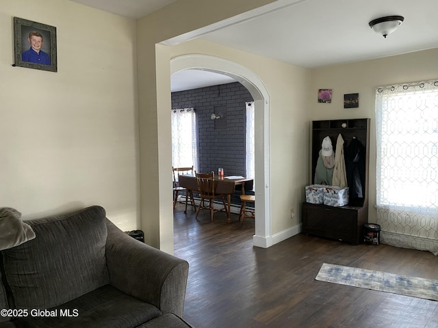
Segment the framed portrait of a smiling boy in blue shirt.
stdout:
<svg viewBox="0 0 438 328">
<path fill-rule="evenodd" d="M 56 27 L 14 17 L 13 66 L 57 72 Z"/>
</svg>

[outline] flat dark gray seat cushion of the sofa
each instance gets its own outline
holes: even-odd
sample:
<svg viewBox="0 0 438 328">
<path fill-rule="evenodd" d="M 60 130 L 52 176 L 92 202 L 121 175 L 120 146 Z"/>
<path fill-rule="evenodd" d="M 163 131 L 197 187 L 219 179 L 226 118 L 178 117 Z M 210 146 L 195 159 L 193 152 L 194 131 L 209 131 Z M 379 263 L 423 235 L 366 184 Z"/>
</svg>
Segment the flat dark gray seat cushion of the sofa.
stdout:
<svg viewBox="0 0 438 328">
<path fill-rule="evenodd" d="M 70 309 L 71 316 L 62 315 L 67 309 Z M 13 323 L 16 328 L 134 328 L 160 314 L 155 306 L 130 297 L 111 285 L 51 308 L 49 312 L 55 316 L 27 316 Z"/>
</svg>

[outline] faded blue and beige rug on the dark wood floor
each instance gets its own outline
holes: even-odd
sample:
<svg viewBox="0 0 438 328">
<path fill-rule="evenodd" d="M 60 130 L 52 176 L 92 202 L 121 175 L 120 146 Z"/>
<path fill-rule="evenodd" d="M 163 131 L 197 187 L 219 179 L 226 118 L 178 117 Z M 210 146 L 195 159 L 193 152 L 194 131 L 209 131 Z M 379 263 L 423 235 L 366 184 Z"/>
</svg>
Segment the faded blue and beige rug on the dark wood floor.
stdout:
<svg viewBox="0 0 438 328">
<path fill-rule="evenodd" d="M 438 280 L 322 264 L 315 280 L 438 301 Z"/>
</svg>

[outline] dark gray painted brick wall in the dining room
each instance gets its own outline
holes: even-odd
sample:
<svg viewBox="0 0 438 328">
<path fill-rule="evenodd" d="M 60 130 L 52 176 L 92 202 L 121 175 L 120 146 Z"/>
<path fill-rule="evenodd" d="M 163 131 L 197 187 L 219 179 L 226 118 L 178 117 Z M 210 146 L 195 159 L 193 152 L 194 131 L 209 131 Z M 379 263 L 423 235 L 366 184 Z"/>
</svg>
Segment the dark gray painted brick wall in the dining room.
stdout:
<svg viewBox="0 0 438 328">
<path fill-rule="evenodd" d="M 253 97 L 239 82 L 172 92 L 172 109 L 193 107 L 198 120 L 199 172 L 245 176 L 246 107 Z M 210 115 L 221 115 L 211 120 Z M 235 197 L 232 200 L 235 204 Z"/>
</svg>

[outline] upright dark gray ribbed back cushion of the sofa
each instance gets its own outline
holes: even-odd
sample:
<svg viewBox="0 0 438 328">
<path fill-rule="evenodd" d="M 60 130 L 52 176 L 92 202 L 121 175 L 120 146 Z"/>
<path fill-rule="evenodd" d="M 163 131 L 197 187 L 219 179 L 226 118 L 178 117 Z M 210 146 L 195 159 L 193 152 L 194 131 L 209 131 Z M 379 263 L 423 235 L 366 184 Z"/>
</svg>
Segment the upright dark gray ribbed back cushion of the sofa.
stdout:
<svg viewBox="0 0 438 328">
<path fill-rule="evenodd" d="M 52 308 L 108 284 L 103 208 L 26 222 L 36 238 L 1 252 L 16 308 Z"/>
</svg>

